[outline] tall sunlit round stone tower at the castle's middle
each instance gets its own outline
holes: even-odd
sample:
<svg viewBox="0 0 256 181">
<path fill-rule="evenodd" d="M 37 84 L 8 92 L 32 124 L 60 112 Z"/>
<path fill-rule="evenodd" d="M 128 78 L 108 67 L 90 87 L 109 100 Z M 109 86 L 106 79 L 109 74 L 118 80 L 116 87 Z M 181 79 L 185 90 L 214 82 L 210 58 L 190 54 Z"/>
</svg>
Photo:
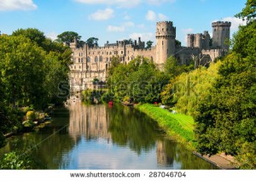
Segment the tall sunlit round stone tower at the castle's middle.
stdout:
<svg viewBox="0 0 256 181">
<path fill-rule="evenodd" d="M 176 27 L 172 21 L 156 23 L 156 63 L 163 64 L 166 59 L 175 54 Z"/>
</svg>

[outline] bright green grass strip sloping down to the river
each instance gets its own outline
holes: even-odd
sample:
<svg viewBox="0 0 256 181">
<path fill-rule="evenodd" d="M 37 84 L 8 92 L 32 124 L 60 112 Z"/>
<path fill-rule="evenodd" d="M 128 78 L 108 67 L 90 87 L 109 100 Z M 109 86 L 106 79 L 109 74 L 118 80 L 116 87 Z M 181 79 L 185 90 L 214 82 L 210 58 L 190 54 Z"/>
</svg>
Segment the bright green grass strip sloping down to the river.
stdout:
<svg viewBox="0 0 256 181">
<path fill-rule="evenodd" d="M 141 110 L 166 130 L 169 137 L 176 139 L 178 142 L 185 143 L 189 149 L 195 149 L 194 119 L 191 116 L 183 114 L 172 114 L 155 105 L 137 105 L 136 108 Z"/>
</svg>

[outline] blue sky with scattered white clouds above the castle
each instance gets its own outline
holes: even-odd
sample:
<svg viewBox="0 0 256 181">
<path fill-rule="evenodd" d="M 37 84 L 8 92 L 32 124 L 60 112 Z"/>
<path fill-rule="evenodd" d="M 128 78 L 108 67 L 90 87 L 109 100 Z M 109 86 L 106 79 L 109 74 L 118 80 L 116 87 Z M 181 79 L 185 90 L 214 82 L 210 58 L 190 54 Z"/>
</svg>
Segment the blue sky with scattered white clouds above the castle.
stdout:
<svg viewBox="0 0 256 181">
<path fill-rule="evenodd" d="M 64 31 L 75 31 L 86 41 L 137 39 L 155 42 L 156 22 L 168 20 L 176 26 L 176 39 L 186 46 L 188 33 L 209 31 L 212 22 L 231 22 L 231 36 L 239 25 L 234 17 L 246 0 L 0 0 L 0 31 L 11 34 L 37 28 L 55 39 Z"/>
</svg>

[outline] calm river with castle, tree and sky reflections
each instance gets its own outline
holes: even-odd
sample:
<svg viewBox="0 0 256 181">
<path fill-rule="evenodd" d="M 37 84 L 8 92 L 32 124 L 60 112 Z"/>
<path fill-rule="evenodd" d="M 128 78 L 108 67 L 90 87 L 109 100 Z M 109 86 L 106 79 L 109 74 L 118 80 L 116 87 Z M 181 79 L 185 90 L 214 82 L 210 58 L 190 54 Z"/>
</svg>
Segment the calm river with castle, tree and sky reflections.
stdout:
<svg viewBox="0 0 256 181">
<path fill-rule="evenodd" d="M 216 168 L 166 139 L 157 123 L 138 110 L 78 102 L 54 112 L 47 127 L 9 138 L 0 156 L 32 150 L 42 169 Z"/>
</svg>

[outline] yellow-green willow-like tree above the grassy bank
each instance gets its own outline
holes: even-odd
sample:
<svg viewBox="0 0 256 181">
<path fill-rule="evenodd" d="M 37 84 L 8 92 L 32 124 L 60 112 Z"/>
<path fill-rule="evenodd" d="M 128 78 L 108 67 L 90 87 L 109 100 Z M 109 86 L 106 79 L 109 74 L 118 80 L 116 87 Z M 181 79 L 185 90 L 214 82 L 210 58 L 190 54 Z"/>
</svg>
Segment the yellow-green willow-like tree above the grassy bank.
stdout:
<svg viewBox="0 0 256 181">
<path fill-rule="evenodd" d="M 212 63 L 207 69 L 200 67 L 195 71 L 183 73 L 172 79 L 161 93 L 163 104 L 175 106 L 179 112 L 195 115 L 198 103 L 210 93 L 212 83 L 218 78 L 221 62 Z"/>
</svg>

